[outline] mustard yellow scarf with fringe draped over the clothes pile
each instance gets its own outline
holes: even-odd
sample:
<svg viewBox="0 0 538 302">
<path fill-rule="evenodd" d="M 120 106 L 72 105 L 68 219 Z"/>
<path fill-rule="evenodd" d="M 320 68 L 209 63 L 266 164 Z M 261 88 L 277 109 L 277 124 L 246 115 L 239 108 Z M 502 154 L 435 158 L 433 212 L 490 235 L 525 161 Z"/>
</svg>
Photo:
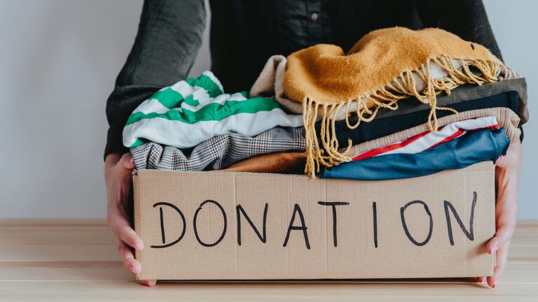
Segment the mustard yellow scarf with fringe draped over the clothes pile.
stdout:
<svg viewBox="0 0 538 302">
<path fill-rule="evenodd" d="M 446 75 L 434 78 L 434 68 Z M 442 29 L 379 29 L 361 38 L 347 55 L 342 48 L 326 44 L 292 53 L 282 85 L 287 98 L 303 106 L 305 173 L 319 172 L 319 164 L 333 166 L 351 160 L 338 146 L 336 120 L 345 120 L 354 129 L 360 122 L 371 121 L 380 108 L 396 110 L 400 99 L 415 96 L 431 106 L 427 122 L 436 131 L 436 110 L 455 112 L 437 107 L 436 94 L 450 94 L 464 83 L 495 82 L 505 70 L 482 45 Z M 351 115 L 359 117 L 357 124 L 350 124 Z M 318 118 L 321 142 L 315 131 Z M 350 147 L 351 142 L 347 150 Z"/>
</svg>

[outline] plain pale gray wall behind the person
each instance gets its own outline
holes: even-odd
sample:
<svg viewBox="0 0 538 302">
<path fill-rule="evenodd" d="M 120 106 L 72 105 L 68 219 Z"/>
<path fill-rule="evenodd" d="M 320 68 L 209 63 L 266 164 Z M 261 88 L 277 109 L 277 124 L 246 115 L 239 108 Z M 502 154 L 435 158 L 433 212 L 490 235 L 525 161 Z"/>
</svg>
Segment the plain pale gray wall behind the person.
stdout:
<svg viewBox="0 0 538 302">
<path fill-rule="evenodd" d="M 519 219 L 538 219 L 538 1 L 485 0 L 504 59 L 525 75 Z M 0 218 L 105 217 L 106 97 L 142 0 L 0 0 Z M 208 35 L 191 75 L 209 69 Z"/>
</svg>

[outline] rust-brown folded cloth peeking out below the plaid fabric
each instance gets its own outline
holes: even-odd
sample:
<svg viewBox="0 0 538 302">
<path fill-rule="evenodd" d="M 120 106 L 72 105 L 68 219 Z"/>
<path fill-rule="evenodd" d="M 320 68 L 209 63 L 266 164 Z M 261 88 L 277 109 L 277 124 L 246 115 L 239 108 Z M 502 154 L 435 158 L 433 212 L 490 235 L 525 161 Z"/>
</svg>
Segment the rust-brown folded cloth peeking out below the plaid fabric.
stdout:
<svg viewBox="0 0 538 302">
<path fill-rule="evenodd" d="M 305 152 L 275 152 L 244 159 L 219 171 L 303 174 L 305 164 Z"/>
</svg>

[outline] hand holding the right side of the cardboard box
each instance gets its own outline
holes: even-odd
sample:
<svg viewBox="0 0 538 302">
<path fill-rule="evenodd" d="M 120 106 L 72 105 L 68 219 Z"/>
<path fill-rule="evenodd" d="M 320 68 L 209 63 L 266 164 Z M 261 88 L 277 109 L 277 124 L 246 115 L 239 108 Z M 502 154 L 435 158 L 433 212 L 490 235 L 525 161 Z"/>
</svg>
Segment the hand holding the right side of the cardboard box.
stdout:
<svg viewBox="0 0 538 302">
<path fill-rule="evenodd" d="M 478 277 L 478 282 L 487 280 L 490 287 L 495 287 L 504 272 L 510 240 L 513 229 L 516 228 L 516 214 L 518 212 L 518 182 L 521 170 L 521 143 L 513 141 L 505 156 L 499 157 L 495 163 L 495 187 L 497 189 L 497 203 L 495 206 L 495 222 L 497 232 L 486 245 L 488 253 L 495 254 L 495 271 L 491 277 Z"/>
</svg>

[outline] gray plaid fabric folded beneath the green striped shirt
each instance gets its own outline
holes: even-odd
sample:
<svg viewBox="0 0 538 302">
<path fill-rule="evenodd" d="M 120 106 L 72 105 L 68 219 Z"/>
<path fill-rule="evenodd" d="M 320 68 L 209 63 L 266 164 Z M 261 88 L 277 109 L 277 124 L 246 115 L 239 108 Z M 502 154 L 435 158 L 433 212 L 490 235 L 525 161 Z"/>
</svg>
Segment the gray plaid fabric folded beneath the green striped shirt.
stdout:
<svg viewBox="0 0 538 302">
<path fill-rule="evenodd" d="M 186 154 L 179 148 L 144 143 L 131 148 L 137 169 L 204 171 L 226 168 L 237 161 L 272 152 L 304 151 L 303 127 L 275 127 L 258 136 L 223 134 L 215 136 Z"/>
</svg>

